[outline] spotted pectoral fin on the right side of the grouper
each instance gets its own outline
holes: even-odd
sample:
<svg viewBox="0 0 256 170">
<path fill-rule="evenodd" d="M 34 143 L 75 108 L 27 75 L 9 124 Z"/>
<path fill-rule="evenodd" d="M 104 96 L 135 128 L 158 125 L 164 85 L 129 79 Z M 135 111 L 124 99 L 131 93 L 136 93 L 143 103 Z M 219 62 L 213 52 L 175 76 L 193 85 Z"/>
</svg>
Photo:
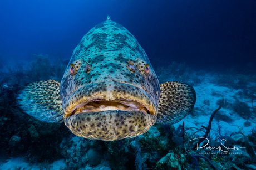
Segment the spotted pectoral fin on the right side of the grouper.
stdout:
<svg viewBox="0 0 256 170">
<path fill-rule="evenodd" d="M 192 86 L 175 81 L 160 84 L 157 123 L 175 124 L 193 110 L 196 94 Z"/>
</svg>

